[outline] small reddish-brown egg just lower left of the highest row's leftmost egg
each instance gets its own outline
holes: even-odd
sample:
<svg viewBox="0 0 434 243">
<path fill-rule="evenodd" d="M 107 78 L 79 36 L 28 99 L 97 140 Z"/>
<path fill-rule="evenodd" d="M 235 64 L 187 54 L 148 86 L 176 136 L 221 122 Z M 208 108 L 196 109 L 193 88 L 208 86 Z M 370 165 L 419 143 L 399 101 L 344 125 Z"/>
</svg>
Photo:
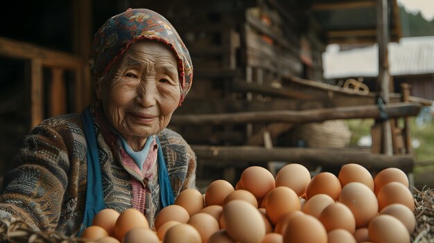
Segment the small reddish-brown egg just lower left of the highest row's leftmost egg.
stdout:
<svg viewBox="0 0 434 243">
<path fill-rule="evenodd" d="M 231 183 L 225 180 L 216 180 L 209 184 L 205 191 L 205 206 L 220 205 L 231 192 L 234 192 Z"/>
</svg>

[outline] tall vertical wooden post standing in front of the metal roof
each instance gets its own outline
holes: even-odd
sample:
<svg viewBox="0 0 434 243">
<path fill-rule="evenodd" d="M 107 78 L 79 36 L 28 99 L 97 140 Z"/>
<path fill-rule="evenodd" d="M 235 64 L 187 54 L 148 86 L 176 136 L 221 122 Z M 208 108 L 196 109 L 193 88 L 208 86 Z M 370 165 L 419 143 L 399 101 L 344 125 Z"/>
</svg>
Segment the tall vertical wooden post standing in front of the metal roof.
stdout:
<svg viewBox="0 0 434 243">
<path fill-rule="evenodd" d="M 376 9 L 376 28 L 377 43 L 379 46 L 379 75 L 377 77 L 378 92 L 387 104 L 389 102 L 389 65 L 388 65 L 388 42 L 389 42 L 389 23 L 388 23 L 388 0 L 377 1 Z M 382 148 L 383 153 L 393 154 L 392 131 L 390 120 L 384 120 L 382 127 Z"/>
</svg>

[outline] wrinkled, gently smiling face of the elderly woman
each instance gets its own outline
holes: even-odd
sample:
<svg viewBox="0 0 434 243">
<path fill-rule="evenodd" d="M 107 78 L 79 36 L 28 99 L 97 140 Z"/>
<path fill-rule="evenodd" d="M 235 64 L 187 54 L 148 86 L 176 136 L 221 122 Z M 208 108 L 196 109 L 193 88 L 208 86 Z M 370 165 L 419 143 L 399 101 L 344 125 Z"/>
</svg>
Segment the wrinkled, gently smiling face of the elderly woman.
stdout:
<svg viewBox="0 0 434 243">
<path fill-rule="evenodd" d="M 113 78 L 96 92 L 110 123 L 127 141 L 157 134 L 167 127 L 180 101 L 177 59 L 162 43 L 132 44 Z"/>
</svg>

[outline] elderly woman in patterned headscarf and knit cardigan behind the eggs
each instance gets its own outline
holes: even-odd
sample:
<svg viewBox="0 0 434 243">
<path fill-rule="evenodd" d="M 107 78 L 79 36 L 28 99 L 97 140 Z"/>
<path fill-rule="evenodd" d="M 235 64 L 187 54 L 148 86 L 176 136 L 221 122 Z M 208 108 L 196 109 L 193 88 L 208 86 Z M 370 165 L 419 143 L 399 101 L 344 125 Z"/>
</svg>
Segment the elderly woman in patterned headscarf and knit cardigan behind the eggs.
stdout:
<svg viewBox="0 0 434 243">
<path fill-rule="evenodd" d="M 161 208 L 195 188 L 196 156 L 166 128 L 193 75 L 173 26 L 151 10 L 127 10 L 98 30 L 89 64 L 96 102 L 26 136 L 0 218 L 72 235 L 103 208 L 136 208 L 152 227 Z"/>
</svg>

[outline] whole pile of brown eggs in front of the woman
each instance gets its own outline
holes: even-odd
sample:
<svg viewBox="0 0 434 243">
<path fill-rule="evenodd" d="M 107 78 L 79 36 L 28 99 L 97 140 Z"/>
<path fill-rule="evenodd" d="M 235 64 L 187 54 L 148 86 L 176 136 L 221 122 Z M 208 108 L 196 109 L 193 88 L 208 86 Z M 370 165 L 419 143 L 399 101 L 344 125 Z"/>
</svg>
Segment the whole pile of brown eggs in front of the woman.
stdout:
<svg viewBox="0 0 434 243">
<path fill-rule="evenodd" d="M 246 168 L 234 188 L 216 180 L 205 194 L 180 192 L 159 211 L 151 230 L 132 208 L 98 213 L 82 237 L 94 242 L 164 243 L 409 243 L 415 203 L 398 168 L 373 178 L 356 163 L 338 177 L 311 178 L 303 165 L 285 165 L 276 178 L 259 166 Z"/>
</svg>

